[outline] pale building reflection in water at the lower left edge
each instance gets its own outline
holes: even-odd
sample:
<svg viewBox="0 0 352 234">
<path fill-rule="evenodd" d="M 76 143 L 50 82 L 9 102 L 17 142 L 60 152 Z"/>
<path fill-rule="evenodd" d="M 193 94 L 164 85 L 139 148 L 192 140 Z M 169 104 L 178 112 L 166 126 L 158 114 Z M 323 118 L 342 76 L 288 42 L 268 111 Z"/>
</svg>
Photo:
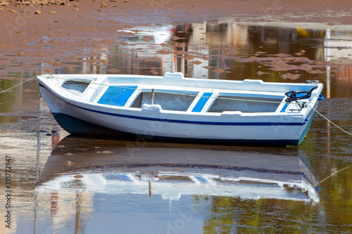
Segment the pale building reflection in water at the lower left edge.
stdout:
<svg viewBox="0 0 352 234">
<path fill-rule="evenodd" d="M 42 127 L 48 128 L 45 124 Z M 18 226 L 23 223 L 23 217 L 32 221 L 34 213 L 32 207 L 35 200 L 34 185 L 50 155 L 51 145 L 54 143 L 51 136 L 46 136 L 45 132 L 39 131 L 37 136 L 26 134 L 24 131 L 22 134 L 20 138 L 18 133 L 13 131 L 1 132 L 0 150 L 4 155 L 3 162 L 5 162 L 5 155 L 10 156 L 11 169 L 5 171 L 3 167 L 4 170 L 0 171 L 0 178 L 6 178 L 5 172 L 8 173 L 11 185 L 9 189 L 5 187 L 5 183 L 0 187 L 3 191 L 0 196 L 0 233 L 18 233 Z M 5 195 L 7 193 L 11 193 L 10 207 L 6 207 L 8 200 Z M 8 211 L 11 214 L 11 228 L 6 228 L 4 224 L 4 217 Z"/>
</svg>

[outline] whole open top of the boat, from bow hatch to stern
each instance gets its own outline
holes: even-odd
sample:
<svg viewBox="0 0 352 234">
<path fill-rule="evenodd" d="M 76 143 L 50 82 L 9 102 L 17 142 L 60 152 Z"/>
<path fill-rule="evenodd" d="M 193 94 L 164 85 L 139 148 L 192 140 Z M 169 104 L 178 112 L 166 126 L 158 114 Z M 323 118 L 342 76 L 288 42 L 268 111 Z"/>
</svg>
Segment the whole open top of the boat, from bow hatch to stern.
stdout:
<svg viewBox="0 0 352 234">
<path fill-rule="evenodd" d="M 153 104 L 160 105 L 161 110 L 199 114 L 298 111 L 301 108 L 295 102 L 285 102 L 285 93 L 309 91 L 314 86 L 316 84 L 292 85 L 249 79 L 242 82 L 191 79 L 177 72 L 167 72 L 164 77 L 71 77 L 61 84 L 62 88 L 82 96 L 83 102 L 88 100 L 89 103 L 110 108 L 143 108 L 144 104 Z M 310 99 L 299 102 L 309 103 Z"/>
</svg>

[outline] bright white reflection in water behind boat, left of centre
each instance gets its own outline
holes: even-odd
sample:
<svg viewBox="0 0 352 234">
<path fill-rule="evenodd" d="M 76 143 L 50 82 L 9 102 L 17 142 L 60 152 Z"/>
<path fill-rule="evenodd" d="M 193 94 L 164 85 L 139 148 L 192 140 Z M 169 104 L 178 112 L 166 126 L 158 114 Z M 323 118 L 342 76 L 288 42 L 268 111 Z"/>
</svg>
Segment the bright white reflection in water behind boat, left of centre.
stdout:
<svg viewBox="0 0 352 234">
<path fill-rule="evenodd" d="M 120 44 L 111 46 L 113 63 L 122 74 L 163 75 L 171 71 L 172 54 L 158 53 L 175 33 L 173 25 L 151 25 L 120 30 L 127 35 Z"/>
</svg>

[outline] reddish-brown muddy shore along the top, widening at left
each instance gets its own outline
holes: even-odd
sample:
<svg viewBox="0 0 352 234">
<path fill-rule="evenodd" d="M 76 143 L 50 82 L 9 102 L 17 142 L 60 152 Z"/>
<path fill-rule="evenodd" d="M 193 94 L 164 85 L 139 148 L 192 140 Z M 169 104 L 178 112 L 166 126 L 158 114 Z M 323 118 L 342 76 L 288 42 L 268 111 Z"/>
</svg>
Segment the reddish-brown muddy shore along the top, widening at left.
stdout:
<svg viewBox="0 0 352 234">
<path fill-rule="evenodd" d="M 43 3 L 44 2 L 44 3 Z M 39 70 L 39 63 L 79 63 L 116 44 L 118 30 L 135 25 L 202 22 L 231 17 L 237 21 L 351 24 L 350 1 L 189 1 L 80 0 L 2 2 L 0 6 L 0 75 Z M 18 4 L 22 3 L 22 4 Z M 42 4 L 40 4 L 42 3 Z M 17 6 L 16 6 L 17 5 Z M 75 48 L 87 48 L 77 54 Z M 59 52 L 59 53 L 58 53 Z M 61 60 L 58 63 L 57 60 Z M 58 63 L 58 64 L 56 64 Z"/>
</svg>

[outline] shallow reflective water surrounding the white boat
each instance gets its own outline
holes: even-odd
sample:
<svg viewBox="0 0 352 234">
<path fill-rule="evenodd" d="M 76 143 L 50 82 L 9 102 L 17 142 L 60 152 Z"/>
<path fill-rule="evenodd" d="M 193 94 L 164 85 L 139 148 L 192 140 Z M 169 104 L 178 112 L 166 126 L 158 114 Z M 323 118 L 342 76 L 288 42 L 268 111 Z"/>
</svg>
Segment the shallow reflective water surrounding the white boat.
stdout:
<svg viewBox="0 0 352 234">
<path fill-rule="evenodd" d="M 352 132 L 351 25 L 224 19 L 129 30 L 101 41 L 95 58 L 8 72 L 0 89 L 43 70 L 161 75 L 174 61 L 187 77 L 318 79 L 326 97 L 318 111 Z M 1 233 L 352 231 L 352 168 L 334 174 L 352 164 L 351 136 L 318 114 L 298 148 L 74 138 L 33 79 L 0 94 L 0 131 Z"/>
</svg>

